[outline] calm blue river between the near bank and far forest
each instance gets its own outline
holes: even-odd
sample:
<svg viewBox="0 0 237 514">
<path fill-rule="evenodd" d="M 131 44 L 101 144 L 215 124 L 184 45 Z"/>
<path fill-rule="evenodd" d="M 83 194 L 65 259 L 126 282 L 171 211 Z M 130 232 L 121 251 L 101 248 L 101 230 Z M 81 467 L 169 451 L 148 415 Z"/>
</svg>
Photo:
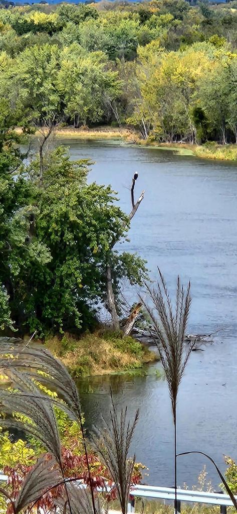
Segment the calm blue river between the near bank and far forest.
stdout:
<svg viewBox="0 0 237 514">
<path fill-rule="evenodd" d="M 191 354 L 178 400 L 178 450 L 202 450 L 225 470 L 223 455 L 237 459 L 237 167 L 171 151 L 120 145 L 116 141 L 68 140 L 73 158 L 95 161 L 89 181 L 111 184 L 119 205 L 130 210 L 130 184 L 139 173 L 135 196 L 145 190 L 123 248 L 139 252 L 151 277 L 159 265 L 171 289 L 180 273 L 191 280 L 189 332 L 225 328 L 204 352 Z M 159 366 L 159 364 L 156 364 Z M 145 482 L 173 486 L 173 427 L 164 380 L 96 377 L 81 381 L 86 426 L 108 415 L 109 388 L 116 405 L 131 415 L 140 408 L 132 450 L 149 468 Z M 102 421 L 101 421 L 102 423 Z M 179 458 L 178 482 L 190 487 L 207 464 L 208 479 L 220 482 L 202 456 Z"/>
</svg>

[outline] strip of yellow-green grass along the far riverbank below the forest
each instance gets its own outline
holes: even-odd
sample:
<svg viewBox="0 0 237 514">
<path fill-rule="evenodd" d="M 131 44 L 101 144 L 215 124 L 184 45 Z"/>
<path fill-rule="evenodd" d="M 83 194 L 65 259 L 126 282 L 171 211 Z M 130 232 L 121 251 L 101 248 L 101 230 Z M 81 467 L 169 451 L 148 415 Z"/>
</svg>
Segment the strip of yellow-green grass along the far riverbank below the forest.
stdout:
<svg viewBox="0 0 237 514">
<path fill-rule="evenodd" d="M 152 146 L 160 150 L 170 150 L 178 155 L 190 155 L 204 159 L 237 160 L 236 144 L 218 144 L 207 142 L 202 145 L 191 143 L 161 143 L 148 139 L 142 139 L 139 132 L 130 127 L 63 127 L 57 128 L 54 133 L 56 138 L 71 138 L 81 140 L 94 139 L 122 139 L 127 144 L 139 146 Z"/>
</svg>

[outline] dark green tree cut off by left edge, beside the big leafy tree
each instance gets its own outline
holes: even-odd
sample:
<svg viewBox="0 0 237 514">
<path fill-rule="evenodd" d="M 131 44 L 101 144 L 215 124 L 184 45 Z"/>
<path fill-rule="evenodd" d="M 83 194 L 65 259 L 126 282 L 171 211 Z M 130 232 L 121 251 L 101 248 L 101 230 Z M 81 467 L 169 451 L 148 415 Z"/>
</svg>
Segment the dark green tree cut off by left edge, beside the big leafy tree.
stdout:
<svg viewBox="0 0 237 514">
<path fill-rule="evenodd" d="M 4 330 L 12 327 L 15 321 L 10 308 L 14 296 L 11 274 L 16 260 L 22 258 L 18 213 L 29 197 L 29 185 L 17 173 L 24 156 L 15 148 L 19 138 L 11 130 L 14 112 L 3 97 L 0 111 L 0 328 Z M 23 228 L 21 240 L 24 241 L 26 235 Z"/>
</svg>

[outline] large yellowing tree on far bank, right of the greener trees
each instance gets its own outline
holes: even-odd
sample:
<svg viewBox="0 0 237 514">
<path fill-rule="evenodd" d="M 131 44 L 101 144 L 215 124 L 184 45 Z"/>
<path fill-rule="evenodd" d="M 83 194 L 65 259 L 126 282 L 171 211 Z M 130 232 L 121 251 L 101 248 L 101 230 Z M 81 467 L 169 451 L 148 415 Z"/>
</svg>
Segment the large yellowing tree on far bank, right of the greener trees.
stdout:
<svg viewBox="0 0 237 514">
<path fill-rule="evenodd" d="M 139 49 L 137 79 L 141 95 L 130 121 L 139 124 L 145 137 L 163 141 L 195 140 L 193 96 L 200 77 L 211 63 L 204 48 L 164 52 L 159 42 Z M 144 128 L 143 128 L 144 127 Z"/>
</svg>

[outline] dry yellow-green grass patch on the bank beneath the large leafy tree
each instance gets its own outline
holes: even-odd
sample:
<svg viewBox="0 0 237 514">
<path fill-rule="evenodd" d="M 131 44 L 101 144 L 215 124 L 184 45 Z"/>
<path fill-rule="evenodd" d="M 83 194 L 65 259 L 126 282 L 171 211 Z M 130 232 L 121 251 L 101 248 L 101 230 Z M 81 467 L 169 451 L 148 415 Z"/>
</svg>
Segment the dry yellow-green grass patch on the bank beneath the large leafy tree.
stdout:
<svg viewBox="0 0 237 514">
<path fill-rule="evenodd" d="M 143 372 L 143 365 L 157 359 L 140 342 L 121 333 L 97 331 L 80 339 L 66 334 L 48 338 L 46 346 L 67 366 L 74 378 L 126 372 Z"/>
</svg>

